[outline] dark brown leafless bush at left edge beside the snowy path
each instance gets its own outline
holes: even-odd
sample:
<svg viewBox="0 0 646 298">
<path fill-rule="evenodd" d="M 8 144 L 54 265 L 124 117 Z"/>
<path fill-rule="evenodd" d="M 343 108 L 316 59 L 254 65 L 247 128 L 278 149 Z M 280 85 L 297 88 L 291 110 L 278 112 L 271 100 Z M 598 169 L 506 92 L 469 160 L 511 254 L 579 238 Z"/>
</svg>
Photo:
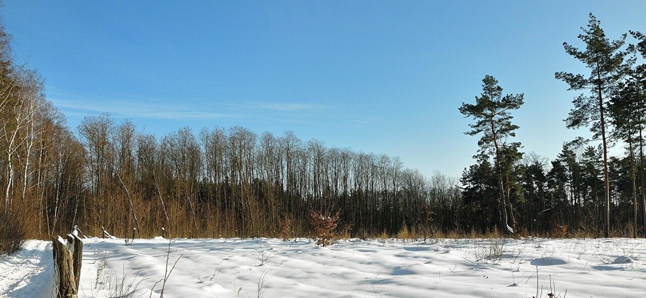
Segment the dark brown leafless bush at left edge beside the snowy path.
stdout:
<svg viewBox="0 0 646 298">
<path fill-rule="evenodd" d="M 13 212 L 0 212 L 0 257 L 23 248 L 27 229 L 21 217 Z"/>
</svg>

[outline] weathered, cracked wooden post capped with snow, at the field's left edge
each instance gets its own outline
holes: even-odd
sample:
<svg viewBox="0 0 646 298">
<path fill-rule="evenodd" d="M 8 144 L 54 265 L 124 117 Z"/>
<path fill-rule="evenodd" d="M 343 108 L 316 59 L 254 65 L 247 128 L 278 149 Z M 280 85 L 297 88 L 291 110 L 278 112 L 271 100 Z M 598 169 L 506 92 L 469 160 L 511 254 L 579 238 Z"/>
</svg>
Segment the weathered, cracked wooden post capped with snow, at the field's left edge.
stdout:
<svg viewBox="0 0 646 298">
<path fill-rule="evenodd" d="M 54 298 L 78 297 L 83 261 L 83 241 L 67 234 L 67 243 L 61 237 L 52 237 L 54 254 Z"/>
</svg>

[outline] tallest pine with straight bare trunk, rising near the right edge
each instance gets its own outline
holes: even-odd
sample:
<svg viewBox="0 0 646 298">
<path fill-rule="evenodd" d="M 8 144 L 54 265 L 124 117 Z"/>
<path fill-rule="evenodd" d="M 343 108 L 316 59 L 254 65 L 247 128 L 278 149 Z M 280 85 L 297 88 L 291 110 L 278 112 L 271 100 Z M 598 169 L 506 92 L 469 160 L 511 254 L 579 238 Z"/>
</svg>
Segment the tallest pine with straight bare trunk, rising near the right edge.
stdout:
<svg viewBox="0 0 646 298">
<path fill-rule="evenodd" d="M 557 72 L 556 79 L 567 83 L 568 90 L 588 90 L 589 95 L 581 94 L 572 103 L 574 108 L 565 119 L 568 128 L 590 126 L 594 138 L 601 137 L 603 149 L 603 174 L 605 184 L 605 237 L 610 235 L 610 183 L 608 177 L 608 136 L 607 99 L 625 75 L 629 74 L 634 58 L 628 57 L 629 50 L 621 50 L 625 44 L 626 34 L 616 41 L 610 41 L 601 22 L 590 13 L 587 28 L 581 27 L 583 34 L 578 38 L 585 43 L 585 50 L 563 43 L 565 52 L 581 61 L 590 70 L 589 75 Z"/>
</svg>

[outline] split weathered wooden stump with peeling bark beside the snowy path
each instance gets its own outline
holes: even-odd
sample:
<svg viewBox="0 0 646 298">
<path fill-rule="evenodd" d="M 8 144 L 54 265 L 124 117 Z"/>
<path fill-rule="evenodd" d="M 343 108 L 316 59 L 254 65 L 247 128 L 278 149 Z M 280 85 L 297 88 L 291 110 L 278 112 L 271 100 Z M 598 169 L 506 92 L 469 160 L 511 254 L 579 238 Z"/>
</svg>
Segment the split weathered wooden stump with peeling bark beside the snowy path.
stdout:
<svg viewBox="0 0 646 298">
<path fill-rule="evenodd" d="M 77 298 L 78 283 L 74 277 L 74 257 L 72 251 L 67 248 L 61 237 L 52 237 L 52 247 L 54 253 L 54 272 L 57 281 L 56 298 Z M 82 246 L 79 246 L 82 248 Z M 82 253 L 79 253 L 81 255 Z M 78 265 L 81 270 L 80 264 Z M 79 274 L 80 275 L 80 274 Z"/>
</svg>

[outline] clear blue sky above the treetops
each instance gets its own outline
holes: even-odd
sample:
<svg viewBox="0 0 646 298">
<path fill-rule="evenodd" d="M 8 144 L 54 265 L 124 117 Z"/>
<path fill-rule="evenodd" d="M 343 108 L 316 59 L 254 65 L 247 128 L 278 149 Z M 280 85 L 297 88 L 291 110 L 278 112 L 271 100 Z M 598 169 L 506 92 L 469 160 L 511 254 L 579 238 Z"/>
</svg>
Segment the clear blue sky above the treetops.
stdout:
<svg viewBox="0 0 646 298">
<path fill-rule="evenodd" d="M 19 61 L 76 128 L 110 112 L 163 135 L 182 126 L 293 130 L 329 146 L 460 175 L 477 138 L 457 108 L 485 74 L 525 93 L 517 139 L 553 158 L 585 130 L 562 121 L 581 71 L 563 51 L 593 12 L 610 37 L 646 28 L 646 1 L 14 1 Z"/>
</svg>

